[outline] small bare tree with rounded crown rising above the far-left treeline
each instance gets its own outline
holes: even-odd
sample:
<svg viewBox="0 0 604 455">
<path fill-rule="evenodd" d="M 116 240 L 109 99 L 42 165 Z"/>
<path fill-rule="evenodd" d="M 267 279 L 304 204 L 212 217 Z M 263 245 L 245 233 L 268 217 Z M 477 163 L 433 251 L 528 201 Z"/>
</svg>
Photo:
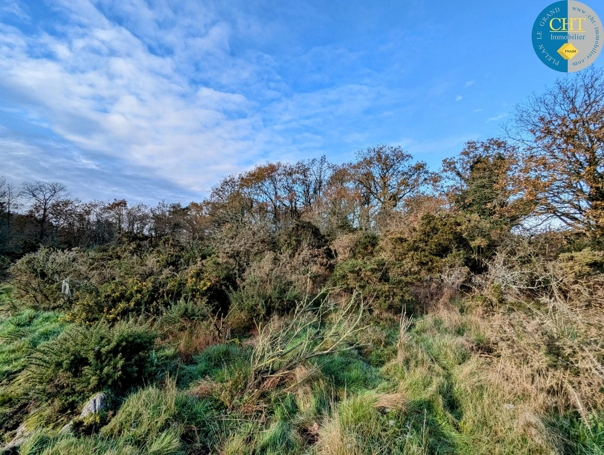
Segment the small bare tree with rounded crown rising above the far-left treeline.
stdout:
<svg viewBox="0 0 604 455">
<path fill-rule="evenodd" d="M 67 187 L 59 182 L 24 182 L 21 195 L 31 202 L 29 212 L 39 225 L 38 239 L 41 241 L 45 237 L 53 207 L 69 196 Z"/>
</svg>

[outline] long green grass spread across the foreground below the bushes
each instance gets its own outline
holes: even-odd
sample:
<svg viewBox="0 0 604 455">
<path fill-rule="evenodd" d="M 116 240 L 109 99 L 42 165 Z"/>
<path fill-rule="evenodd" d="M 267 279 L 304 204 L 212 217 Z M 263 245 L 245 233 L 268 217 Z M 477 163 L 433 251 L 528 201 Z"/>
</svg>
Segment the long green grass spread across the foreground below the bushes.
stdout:
<svg viewBox="0 0 604 455">
<path fill-rule="evenodd" d="M 376 329 L 379 352 L 388 352 L 380 361 L 378 349 L 362 347 L 317 357 L 263 391 L 245 388 L 249 347 L 210 346 L 178 380 L 132 393 L 100 432 L 37 430 L 20 453 L 602 455 L 603 415 L 587 427 L 573 413 L 528 411 L 467 349 L 487 343 L 470 317 L 465 309 L 446 323 L 416 320 L 399 352 L 396 328 Z M 43 343 L 45 318 L 19 313 L 1 333 L 36 327 L 28 343 Z"/>
</svg>

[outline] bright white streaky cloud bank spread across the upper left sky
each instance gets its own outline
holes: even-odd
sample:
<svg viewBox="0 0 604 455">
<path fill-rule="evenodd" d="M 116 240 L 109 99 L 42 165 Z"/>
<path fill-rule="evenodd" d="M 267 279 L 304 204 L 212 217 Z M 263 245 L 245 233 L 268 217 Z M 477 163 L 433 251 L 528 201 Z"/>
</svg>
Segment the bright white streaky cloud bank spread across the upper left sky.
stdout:
<svg viewBox="0 0 604 455">
<path fill-rule="evenodd" d="M 233 25 L 197 2 L 60 7 L 68 21 L 56 35 L 0 24 L 0 90 L 30 124 L 185 193 L 265 159 L 308 156 L 338 132 L 327 122 L 362 124 L 376 98 L 369 83 L 293 92 L 267 54 L 234 55 Z M 335 48 L 308 54 L 330 65 L 355 59 Z"/>
</svg>

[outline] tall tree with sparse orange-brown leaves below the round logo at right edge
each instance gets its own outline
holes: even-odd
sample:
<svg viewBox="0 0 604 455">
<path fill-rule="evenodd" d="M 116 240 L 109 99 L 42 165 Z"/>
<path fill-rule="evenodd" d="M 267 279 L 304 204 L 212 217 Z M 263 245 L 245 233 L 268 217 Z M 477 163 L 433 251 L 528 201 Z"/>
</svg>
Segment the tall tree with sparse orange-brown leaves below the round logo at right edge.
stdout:
<svg viewBox="0 0 604 455">
<path fill-rule="evenodd" d="M 523 147 L 522 187 L 536 215 L 604 234 L 604 71 L 556 80 L 516 106 L 507 132 Z"/>
</svg>

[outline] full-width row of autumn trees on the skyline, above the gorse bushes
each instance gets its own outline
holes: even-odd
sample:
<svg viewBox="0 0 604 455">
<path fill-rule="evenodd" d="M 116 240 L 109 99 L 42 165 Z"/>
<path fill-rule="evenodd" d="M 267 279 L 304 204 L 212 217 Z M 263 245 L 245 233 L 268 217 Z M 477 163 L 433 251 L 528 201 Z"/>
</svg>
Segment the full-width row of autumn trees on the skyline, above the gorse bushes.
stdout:
<svg viewBox="0 0 604 455">
<path fill-rule="evenodd" d="M 559 81 L 517 106 L 506 137 L 471 141 L 439 172 L 400 147 L 359 150 L 351 163 L 325 157 L 267 163 L 229 176 L 209 198 L 155 207 L 82 202 L 57 182 L 0 180 L 0 249 L 13 256 L 37 245 L 93 247 L 122 235 L 208 236 L 226 224 L 283 230 L 304 220 L 327 236 L 380 232 L 400 216 L 454 210 L 511 228 L 533 216 L 587 236 L 604 232 L 602 74 Z M 431 208 L 428 208 L 431 207 Z"/>
</svg>

